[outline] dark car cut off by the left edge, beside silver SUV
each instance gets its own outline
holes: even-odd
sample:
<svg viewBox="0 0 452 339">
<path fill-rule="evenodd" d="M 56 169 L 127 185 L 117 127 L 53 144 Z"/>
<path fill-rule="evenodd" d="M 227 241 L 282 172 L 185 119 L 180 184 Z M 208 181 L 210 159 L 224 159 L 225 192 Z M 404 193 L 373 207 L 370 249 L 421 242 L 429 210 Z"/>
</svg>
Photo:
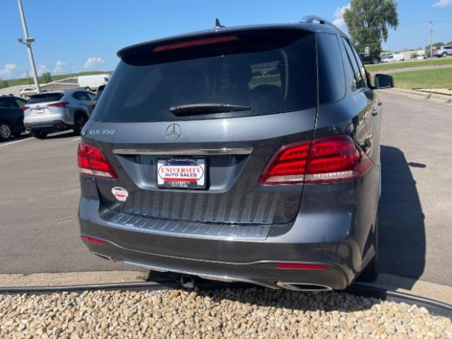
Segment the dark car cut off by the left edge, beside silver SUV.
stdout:
<svg viewBox="0 0 452 339">
<path fill-rule="evenodd" d="M 27 100 L 14 96 L 0 96 L 0 141 L 9 140 L 25 131 L 24 107 Z"/>
</svg>

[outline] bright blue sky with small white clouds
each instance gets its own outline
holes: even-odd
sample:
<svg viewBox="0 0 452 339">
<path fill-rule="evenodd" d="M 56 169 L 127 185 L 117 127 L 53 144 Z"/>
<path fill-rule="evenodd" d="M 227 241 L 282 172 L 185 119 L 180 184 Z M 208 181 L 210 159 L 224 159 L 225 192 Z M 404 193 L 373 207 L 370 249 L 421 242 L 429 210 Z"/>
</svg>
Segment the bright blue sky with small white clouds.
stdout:
<svg viewBox="0 0 452 339">
<path fill-rule="evenodd" d="M 22 0 L 38 72 L 113 70 L 121 47 L 168 35 L 226 26 L 294 22 L 316 14 L 338 23 L 349 0 Z M 399 0 L 400 27 L 383 47 L 424 46 L 428 21 L 434 41 L 452 40 L 452 0 Z M 29 69 L 16 0 L 0 0 L 0 77 Z"/>
</svg>

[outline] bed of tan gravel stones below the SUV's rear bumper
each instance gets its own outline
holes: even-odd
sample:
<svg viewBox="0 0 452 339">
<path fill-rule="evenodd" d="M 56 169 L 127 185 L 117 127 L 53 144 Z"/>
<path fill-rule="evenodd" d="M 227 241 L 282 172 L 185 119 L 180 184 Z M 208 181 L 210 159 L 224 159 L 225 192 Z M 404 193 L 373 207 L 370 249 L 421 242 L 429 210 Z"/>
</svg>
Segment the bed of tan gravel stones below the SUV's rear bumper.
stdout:
<svg viewBox="0 0 452 339">
<path fill-rule="evenodd" d="M 452 338 L 452 325 L 337 292 L 63 292 L 0 295 L 0 338 Z"/>
</svg>

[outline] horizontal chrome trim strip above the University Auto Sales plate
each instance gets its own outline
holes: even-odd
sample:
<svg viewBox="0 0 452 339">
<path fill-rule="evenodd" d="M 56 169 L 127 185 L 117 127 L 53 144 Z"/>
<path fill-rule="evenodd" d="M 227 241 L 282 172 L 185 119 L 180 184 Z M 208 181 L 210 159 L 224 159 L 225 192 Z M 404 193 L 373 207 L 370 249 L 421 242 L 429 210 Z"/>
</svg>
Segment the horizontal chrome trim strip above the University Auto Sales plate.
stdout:
<svg viewBox="0 0 452 339">
<path fill-rule="evenodd" d="M 116 149 L 114 154 L 120 155 L 248 155 L 253 148 L 218 148 L 218 149 L 187 149 L 187 150 L 134 150 Z"/>
</svg>

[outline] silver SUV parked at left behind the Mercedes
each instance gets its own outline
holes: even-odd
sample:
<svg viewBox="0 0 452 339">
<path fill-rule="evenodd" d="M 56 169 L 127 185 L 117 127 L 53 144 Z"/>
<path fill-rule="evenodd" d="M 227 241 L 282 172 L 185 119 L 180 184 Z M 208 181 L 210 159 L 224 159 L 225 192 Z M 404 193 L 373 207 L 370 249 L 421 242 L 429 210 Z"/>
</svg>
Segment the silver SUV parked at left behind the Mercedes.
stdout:
<svg viewBox="0 0 452 339">
<path fill-rule="evenodd" d="M 24 109 L 24 125 L 33 137 L 73 129 L 79 134 L 91 116 L 94 94 L 83 89 L 67 89 L 33 95 Z"/>
</svg>

